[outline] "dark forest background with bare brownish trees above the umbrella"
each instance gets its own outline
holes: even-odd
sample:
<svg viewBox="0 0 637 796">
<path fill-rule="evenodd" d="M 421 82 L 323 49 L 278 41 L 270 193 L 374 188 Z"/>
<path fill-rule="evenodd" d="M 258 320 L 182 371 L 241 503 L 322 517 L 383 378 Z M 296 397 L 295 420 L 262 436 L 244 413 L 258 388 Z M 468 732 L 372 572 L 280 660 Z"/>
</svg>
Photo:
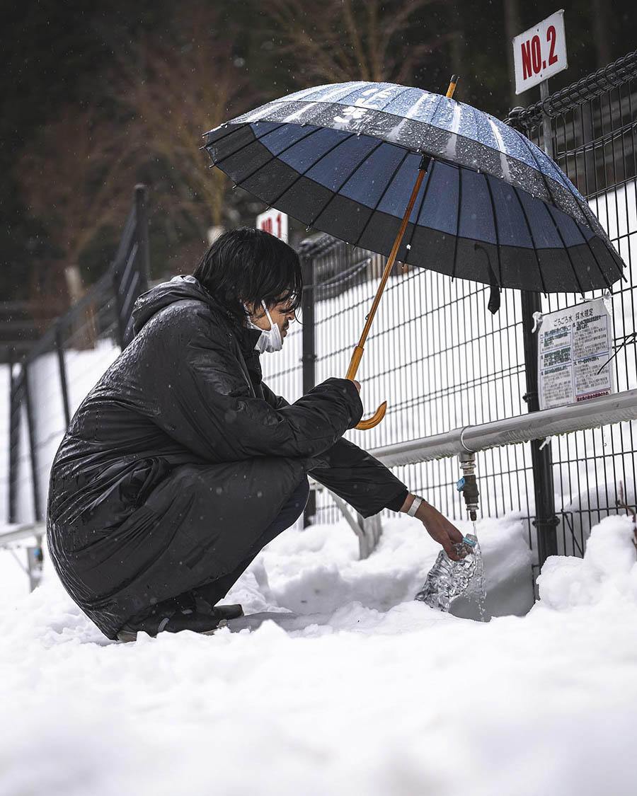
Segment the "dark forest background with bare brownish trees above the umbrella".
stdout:
<svg viewBox="0 0 637 796">
<path fill-rule="evenodd" d="M 389 80 L 503 117 L 510 39 L 565 8 L 569 69 L 551 91 L 635 49 L 635 0 L 23 0 L 2 4 L 0 299 L 42 322 L 115 254 L 135 183 L 150 193 L 153 279 L 192 271 L 209 228 L 263 208 L 209 170 L 200 136 L 287 92 Z M 297 236 L 304 230 L 295 229 Z"/>
</svg>

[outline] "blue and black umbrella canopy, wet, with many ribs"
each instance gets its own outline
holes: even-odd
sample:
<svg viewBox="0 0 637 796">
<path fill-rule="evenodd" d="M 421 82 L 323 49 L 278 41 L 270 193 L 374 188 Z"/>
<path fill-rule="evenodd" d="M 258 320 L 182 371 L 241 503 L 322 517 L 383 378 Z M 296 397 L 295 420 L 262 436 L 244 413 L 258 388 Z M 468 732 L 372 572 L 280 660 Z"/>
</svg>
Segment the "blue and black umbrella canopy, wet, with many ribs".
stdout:
<svg viewBox="0 0 637 796">
<path fill-rule="evenodd" d="M 397 259 L 543 292 L 609 287 L 622 275 L 608 235 L 551 158 L 493 116 L 420 88 L 308 88 L 209 131 L 205 149 L 266 204 L 383 255 L 428 155 Z"/>
</svg>

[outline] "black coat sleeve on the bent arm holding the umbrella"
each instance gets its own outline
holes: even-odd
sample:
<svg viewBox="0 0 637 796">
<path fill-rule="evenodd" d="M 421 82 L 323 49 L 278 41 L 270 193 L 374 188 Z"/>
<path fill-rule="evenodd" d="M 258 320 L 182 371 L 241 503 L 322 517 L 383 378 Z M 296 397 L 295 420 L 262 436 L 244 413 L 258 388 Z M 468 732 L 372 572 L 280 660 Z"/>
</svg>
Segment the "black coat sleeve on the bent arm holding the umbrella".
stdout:
<svg viewBox="0 0 637 796">
<path fill-rule="evenodd" d="M 170 383 L 154 390 L 154 421 L 205 460 L 313 457 L 361 418 L 358 392 L 346 379 L 327 379 L 295 404 L 274 408 L 252 395 L 232 340 L 211 334 L 207 318 L 170 320 L 152 338 L 156 367 L 170 373 Z"/>
</svg>

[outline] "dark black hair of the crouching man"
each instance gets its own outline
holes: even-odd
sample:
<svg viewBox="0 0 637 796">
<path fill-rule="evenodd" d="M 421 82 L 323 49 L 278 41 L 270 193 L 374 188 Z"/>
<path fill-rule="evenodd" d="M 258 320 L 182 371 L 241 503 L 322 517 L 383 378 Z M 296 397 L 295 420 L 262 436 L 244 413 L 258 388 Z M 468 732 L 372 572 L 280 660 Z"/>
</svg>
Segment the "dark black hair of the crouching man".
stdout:
<svg viewBox="0 0 637 796">
<path fill-rule="evenodd" d="M 303 279 L 299 255 L 269 232 L 243 227 L 224 232 L 201 258 L 193 276 L 243 323 L 243 302 L 272 306 L 301 303 Z"/>
</svg>

